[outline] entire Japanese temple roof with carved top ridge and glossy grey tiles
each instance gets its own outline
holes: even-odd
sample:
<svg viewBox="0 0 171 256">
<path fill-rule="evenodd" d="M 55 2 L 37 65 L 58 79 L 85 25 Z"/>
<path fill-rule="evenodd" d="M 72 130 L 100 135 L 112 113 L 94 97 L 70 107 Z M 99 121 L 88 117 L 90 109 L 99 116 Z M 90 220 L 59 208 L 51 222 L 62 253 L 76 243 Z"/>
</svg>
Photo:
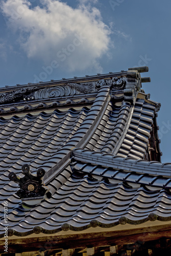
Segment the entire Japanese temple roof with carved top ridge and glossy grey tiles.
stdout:
<svg viewBox="0 0 171 256">
<path fill-rule="evenodd" d="M 147 70 L 0 90 L 1 237 L 5 201 L 9 234 L 19 237 L 171 220 L 171 163 L 161 163 L 160 104 L 141 89 Z M 26 164 L 27 184 L 49 196 L 16 195 L 9 177 L 25 182 Z"/>
</svg>

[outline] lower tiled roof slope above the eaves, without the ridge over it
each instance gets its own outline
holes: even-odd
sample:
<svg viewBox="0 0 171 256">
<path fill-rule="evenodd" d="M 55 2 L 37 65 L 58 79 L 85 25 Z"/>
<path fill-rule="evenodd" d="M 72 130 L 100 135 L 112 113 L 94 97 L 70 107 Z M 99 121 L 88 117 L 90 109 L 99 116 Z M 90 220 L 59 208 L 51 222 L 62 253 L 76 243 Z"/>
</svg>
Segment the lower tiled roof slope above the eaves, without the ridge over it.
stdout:
<svg viewBox="0 0 171 256">
<path fill-rule="evenodd" d="M 152 213 L 158 220 L 170 220 L 170 197 L 163 188 L 149 191 L 145 185 L 131 187 L 121 178 L 112 184 L 102 177 L 95 180 L 83 172 L 74 172 L 51 199 L 34 209 L 23 211 L 20 205 L 12 210 L 9 226 L 15 234 L 26 236 L 33 233 L 35 225 L 42 232 L 54 233 L 62 230 L 63 223 L 68 223 L 71 230 L 87 229 L 92 220 L 101 227 L 112 227 L 119 224 L 121 216 L 130 224 L 143 223 Z"/>
</svg>

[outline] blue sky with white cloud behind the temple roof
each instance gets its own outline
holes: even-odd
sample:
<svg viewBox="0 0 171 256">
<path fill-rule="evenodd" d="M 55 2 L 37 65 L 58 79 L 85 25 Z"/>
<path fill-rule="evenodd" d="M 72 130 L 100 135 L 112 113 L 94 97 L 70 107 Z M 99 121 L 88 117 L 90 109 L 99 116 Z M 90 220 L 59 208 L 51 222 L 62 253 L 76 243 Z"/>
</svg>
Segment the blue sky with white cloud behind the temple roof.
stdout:
<svg viewBox="0 0 171 256">
<path fill-rule="evenodd" d="M 148 66 L 143 89 L 162 104 L 162 162 L 171 162 L 170 24 L 165 0 L 5 0 L 0 87 Z"/>
</svg>

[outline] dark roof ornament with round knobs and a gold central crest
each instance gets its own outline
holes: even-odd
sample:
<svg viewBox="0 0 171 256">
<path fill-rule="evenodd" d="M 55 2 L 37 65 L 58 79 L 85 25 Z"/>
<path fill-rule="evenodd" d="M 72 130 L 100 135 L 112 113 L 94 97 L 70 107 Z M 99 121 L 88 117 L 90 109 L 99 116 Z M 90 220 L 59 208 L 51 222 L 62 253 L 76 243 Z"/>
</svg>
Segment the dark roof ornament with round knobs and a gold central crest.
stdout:
<svg viewBox="0 0 171 256">
<path fill-rule="evenodd" d="M 25 175 L 23 178 L 16 176 L 11 172 L 8 177 L 10 180 L 19 183 L 20 189 L 16 192 L 16 195 L 21 199 L 33 199 L 35 197 L 42 197 L 49 192 L 47 186 L 44 185 L 42 178 L 45 175 L 45 170 L 39 168 L 37 170 L 37 176 L 32 175 L 30 172 L 30 166 L 24 164 L 22 166 L 22 172 Z"/>
</svg>

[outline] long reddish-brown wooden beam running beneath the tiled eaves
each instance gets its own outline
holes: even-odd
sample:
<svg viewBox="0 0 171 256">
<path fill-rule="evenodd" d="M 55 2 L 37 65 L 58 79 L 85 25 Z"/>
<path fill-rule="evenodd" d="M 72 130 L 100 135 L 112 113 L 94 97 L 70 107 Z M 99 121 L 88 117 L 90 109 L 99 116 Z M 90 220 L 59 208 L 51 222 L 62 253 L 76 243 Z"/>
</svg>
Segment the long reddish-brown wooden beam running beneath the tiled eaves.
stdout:
<svg viewBox="0 0 171 256">
<path fill-rule="evenodd" d="M 100 247 L 134 244 L 136 241 L 154 241 L 165 237 L 171 239 L 171 225 L 129 229 L 121 231 L 105 231 L 98 233 L 71 234 L 66 236 L 47 236 L 9 240 L 8 252 L 21 253 L 50 249 L 75 249 L 83 247 Z M 0 241 L 0 251 L 3 251 L 4 241 Z M 19 245 L 19 246 L 18 246 Z M 66 248 L 67 246 L 67 248 Z"/>
</svg>

